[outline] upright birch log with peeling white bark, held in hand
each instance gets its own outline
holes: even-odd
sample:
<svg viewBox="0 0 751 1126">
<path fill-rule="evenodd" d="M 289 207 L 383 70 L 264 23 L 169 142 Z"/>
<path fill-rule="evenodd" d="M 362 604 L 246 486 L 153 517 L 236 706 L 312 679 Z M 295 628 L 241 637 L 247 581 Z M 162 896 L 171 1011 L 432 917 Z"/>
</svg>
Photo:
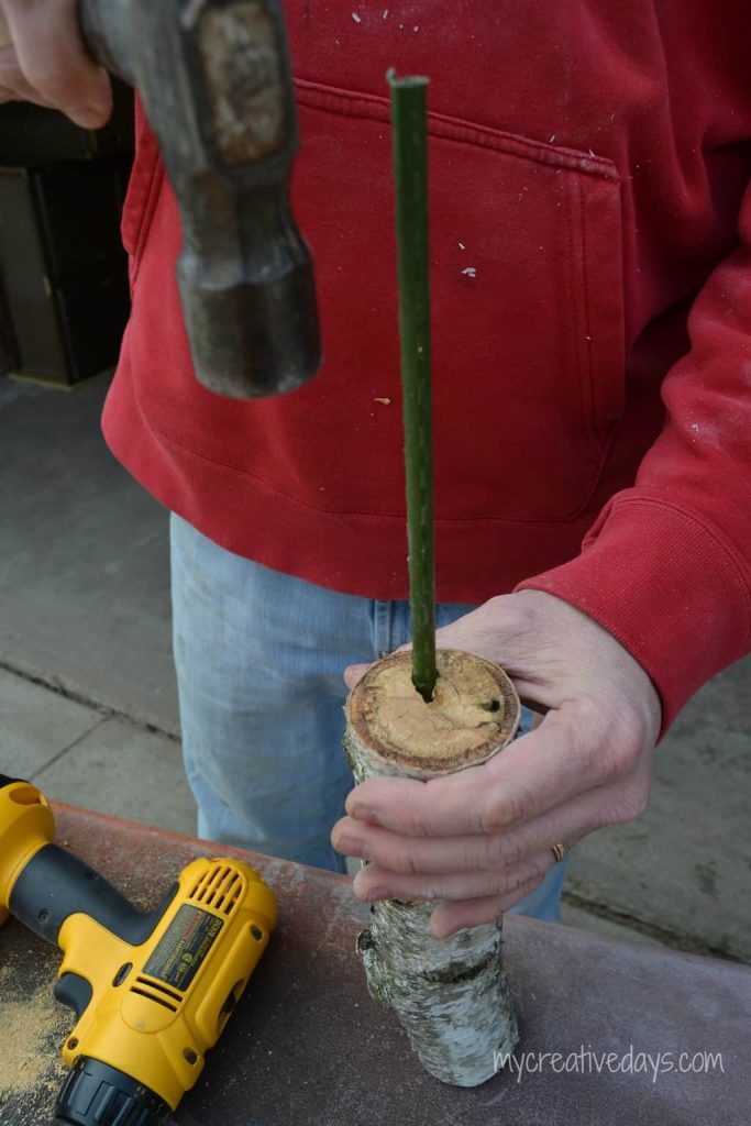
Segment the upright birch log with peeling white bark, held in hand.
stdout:
<svg viewBox="0 0 751 1126">
<path fill-rule="evenodd" d="M 412 683 L 410 653 L 374 664 L 350 692 L 345 750 L 356 781 L 441 777 L 485 762 L 513 739 L 519 699 L 502 669 L 457 650 L 437 656 L 430 703 Z M 357 949 L 370 995 L 394 1010 L 430 1074 L 476 1087 L 518 1038 L 501 921 L 439 940 L 430 930 L 435 906 L 374 903 Z"/>
</svg>

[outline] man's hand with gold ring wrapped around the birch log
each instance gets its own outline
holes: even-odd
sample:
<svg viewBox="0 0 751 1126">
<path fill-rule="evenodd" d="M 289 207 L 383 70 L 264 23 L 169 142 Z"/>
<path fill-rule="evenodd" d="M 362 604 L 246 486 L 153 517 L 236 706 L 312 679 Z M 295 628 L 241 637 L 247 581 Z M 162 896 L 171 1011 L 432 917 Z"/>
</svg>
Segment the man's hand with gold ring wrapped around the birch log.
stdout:
<svg viewBox="0 0 751 1126">
<path fill-rule="evenodd" d="M 432 928 L 446 938 L 534 891 L 553 844 L 643 812 L 660 701 L 611 634 L 551 595 L 493 598 L 437 641 L 500 664 L 545 718 L 483 766 L 357 786 L 331 839 L 372 861 L 355 879 L 359 899 L 441 900 Z M 347 670 L 349 687 L 365 668 Z"/>
</svg>

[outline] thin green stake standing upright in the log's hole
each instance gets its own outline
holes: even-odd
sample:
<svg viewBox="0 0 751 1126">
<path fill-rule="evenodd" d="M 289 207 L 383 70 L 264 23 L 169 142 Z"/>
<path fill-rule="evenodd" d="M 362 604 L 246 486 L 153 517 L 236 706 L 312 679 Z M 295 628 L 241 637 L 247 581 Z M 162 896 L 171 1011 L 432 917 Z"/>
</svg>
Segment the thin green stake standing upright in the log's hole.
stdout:
<svg viewBox="0 0 751 1126">
<path fill-rule="evenodd" d="M 396 185 L 404 464 L 412 615 L 412 681 L 424 700 L 436 687 L 436 568 L 430 419 L 427 78 L 386 75 Z"/>
</svg>

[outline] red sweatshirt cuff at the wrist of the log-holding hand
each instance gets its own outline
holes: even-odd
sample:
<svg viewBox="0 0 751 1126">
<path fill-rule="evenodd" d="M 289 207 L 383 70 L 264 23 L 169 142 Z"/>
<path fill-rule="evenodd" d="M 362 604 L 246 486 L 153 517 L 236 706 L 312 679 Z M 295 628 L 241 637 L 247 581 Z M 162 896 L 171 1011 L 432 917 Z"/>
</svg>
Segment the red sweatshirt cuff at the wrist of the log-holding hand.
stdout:
<svg viewBox="0 0 751 1126">
<path fill-rule="evenodd" d="M 519 583 L 589 615 L 645 669 L 661 738 L 690 696 L 751 647 L 751 570 L 701 515 L 625 492 L 576 558 Z"/>
</svg>

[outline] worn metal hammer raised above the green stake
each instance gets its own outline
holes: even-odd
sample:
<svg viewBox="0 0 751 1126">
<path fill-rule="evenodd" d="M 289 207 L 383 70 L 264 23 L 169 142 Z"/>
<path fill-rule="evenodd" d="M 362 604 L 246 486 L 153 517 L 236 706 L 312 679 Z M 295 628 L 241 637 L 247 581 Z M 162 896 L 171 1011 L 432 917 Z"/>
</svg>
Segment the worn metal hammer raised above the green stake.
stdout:
<svg viewBox="0 0 751 1126">
<path fill-rule="evenodd" d="M 289 205 L 297 122 L 278 0 L 79 0 L 91 55 L 134 86 L 177 196 L 196 375 L 253 399 L 321 363 L 313 265 Z"/>
</svg>

